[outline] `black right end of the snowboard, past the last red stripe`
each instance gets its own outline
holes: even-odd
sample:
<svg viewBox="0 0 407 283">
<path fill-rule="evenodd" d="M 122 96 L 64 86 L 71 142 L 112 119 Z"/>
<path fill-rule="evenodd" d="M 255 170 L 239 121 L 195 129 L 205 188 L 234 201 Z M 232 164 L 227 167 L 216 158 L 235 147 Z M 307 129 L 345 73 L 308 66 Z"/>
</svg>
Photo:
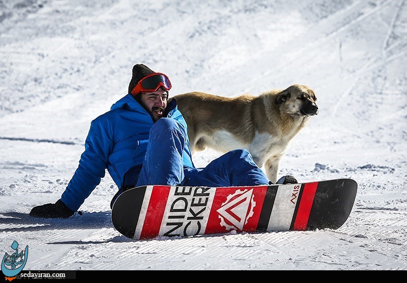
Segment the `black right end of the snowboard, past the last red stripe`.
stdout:
<svg viewBox="0 0 407 283">
<path fill-rule="evenodd" d="M 351 214 L 357 190 L 352 179 L 319 182 L 306 230 L 341 227 Z"/>
</svg>

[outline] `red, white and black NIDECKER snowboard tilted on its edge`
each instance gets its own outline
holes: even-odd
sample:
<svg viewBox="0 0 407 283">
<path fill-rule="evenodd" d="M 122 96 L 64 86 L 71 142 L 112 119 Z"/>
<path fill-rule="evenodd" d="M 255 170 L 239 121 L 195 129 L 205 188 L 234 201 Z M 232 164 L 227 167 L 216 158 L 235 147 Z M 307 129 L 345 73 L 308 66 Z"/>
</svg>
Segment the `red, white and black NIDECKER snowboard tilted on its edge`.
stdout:
<svg viewBox="0 0 407 283">
<path fill-rule="evenodd" d="M 148 185 L 113 203 L 114 228 L 131 239 L 258 231 L 338 229 L 351 213 L 357 183 L 206 187 Z"/>
</svg>

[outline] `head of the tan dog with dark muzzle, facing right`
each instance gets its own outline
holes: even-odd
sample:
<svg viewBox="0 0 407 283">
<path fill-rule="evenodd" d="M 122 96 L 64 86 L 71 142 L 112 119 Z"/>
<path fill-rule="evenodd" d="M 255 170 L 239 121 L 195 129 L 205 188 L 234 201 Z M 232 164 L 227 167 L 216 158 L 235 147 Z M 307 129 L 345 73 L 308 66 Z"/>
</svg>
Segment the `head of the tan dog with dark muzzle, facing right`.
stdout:
<svg viewBox="0 0 407 283">
<path fill-rule="evenodd" d="M 312 116 L 318 114 L 315 93 L 305 85 L 289 86 L 278 93 L 275 103 L 291 115 Z"/>
</svg>

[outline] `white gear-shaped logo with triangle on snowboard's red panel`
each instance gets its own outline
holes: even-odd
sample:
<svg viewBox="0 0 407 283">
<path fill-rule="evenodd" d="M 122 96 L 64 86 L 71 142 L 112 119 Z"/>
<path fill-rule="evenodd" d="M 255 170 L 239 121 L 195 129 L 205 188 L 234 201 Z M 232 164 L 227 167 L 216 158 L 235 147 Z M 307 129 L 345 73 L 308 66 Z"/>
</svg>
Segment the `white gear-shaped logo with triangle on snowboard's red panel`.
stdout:
<svg viewBox="0 0 407 283">
<path fill-rule="evenodd" d="M 256 206 L 253 198 L 253 189 L 238 190 L 228 195 L 226 201 L 216 210 L 219 213 L 220 225 L 227 231 L 242 231 L 243 226 L 253 216 L 253 209 Z"/>
</svg>

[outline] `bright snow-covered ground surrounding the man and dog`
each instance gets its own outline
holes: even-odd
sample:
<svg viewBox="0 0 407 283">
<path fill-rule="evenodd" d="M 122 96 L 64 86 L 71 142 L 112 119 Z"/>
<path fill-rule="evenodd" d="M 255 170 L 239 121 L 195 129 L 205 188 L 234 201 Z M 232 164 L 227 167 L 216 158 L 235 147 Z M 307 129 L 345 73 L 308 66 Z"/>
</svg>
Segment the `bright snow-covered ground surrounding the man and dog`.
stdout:
<svg viewBox="0 0 407 283">
<path fill-rule="evenodd" d="M 407 270 L 406 52 L 405 0 L 0 0 L 0 254 L 28 245 L 24 270 Z M 319 114 L 279 175 L 355 179 L 347 222 L 133 241 L 111 224 L 108 174 L 83 215 L 30 217 L 60 198 L 91 120 L 141 63 L 171 96 L 313 88 Z"/>
</svg>

